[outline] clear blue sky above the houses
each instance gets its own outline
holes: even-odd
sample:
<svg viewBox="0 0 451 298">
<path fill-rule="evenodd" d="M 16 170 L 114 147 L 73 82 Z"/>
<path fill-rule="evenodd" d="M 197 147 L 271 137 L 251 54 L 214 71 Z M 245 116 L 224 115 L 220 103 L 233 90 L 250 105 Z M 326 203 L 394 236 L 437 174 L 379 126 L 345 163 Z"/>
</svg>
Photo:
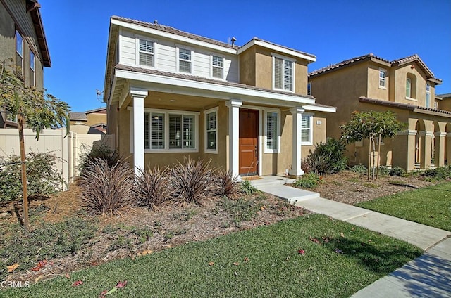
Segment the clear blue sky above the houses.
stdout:
<svg viewBox="0 0 451 298">
<path fill-rule="evenodd" d="M 109 18 L 153 22 L 241 46 L 252 37 L 316 55 L 309 71 L 374 53 L 395 60 L 417 53 L 451 93 L 450 0 L 50 1 L 40 0 L 52 66 L 47 91 L 73 111 L 104 106 Z"/>
</svg>

